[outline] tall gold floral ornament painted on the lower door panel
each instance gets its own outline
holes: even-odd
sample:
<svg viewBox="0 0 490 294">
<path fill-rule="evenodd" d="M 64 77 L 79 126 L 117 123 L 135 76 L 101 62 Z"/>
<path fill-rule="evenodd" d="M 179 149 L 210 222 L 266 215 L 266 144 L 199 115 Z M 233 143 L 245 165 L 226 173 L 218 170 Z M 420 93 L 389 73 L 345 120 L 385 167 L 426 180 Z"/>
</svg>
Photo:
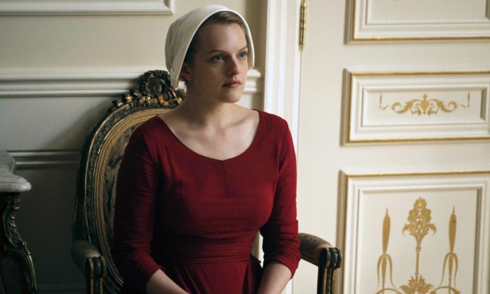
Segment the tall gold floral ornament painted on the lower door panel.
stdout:
<svg viewBox="0 0 490 294">
<path fill-rule="evenodd" d="M 437 294 L 439 290 L 447 290 L 448 293 L 459 294 L 456 289 L 456 274 L 458 268 L 458 257 L 454 253 L 454 242 L 456 240 L 456 213 L 453 207 L 453 212 L 449 218 L 449 253 L 446 254 L 443 264 L 443 274 L 441 282 L 438 287 L 435 287 L 426 282 L 424 277 L 419 272 L 419 260 L 420 251 L 422 250 L 422 240 L 424 237 L 432 231 L 436 233 L 436 227 L 431 223 L 431 211 L 427 208 L 427 202 L 422 197 L 419 197 L 413 204 L 413 209 L 408 213 L 408 223 L 402 229 L 402 234 L 409 232 L 415 238 L 416 241 L 416 262 L 415 262 L 415 274 L 410 277 L 408 282 L 399 288 L 397 288 L 391 277 L 393 271 L 393 262 L 391 256 L 387 253 L 388 239 L 390 231 L 390 219 L 388 215 L 388 209 L 386 209 L 386 215 L 383 219 L 383 234 L 382 234 L 382 247 L 383 254 L 378 259 L 377 274 L 378 274 L 378 287 L 379 288 L 379 272 L 381 267 L 382 285 L 381 289 L 376 294 L 394 292 L 397 294 Z M 389 279 L 392 287 L 385 286 L 386 266 L 389 264 Z M 448 285 L 443 286 L 446 265 L 448 267 Z M 454 270 L 454 271 L 453 271 Z"/>
</svg>

